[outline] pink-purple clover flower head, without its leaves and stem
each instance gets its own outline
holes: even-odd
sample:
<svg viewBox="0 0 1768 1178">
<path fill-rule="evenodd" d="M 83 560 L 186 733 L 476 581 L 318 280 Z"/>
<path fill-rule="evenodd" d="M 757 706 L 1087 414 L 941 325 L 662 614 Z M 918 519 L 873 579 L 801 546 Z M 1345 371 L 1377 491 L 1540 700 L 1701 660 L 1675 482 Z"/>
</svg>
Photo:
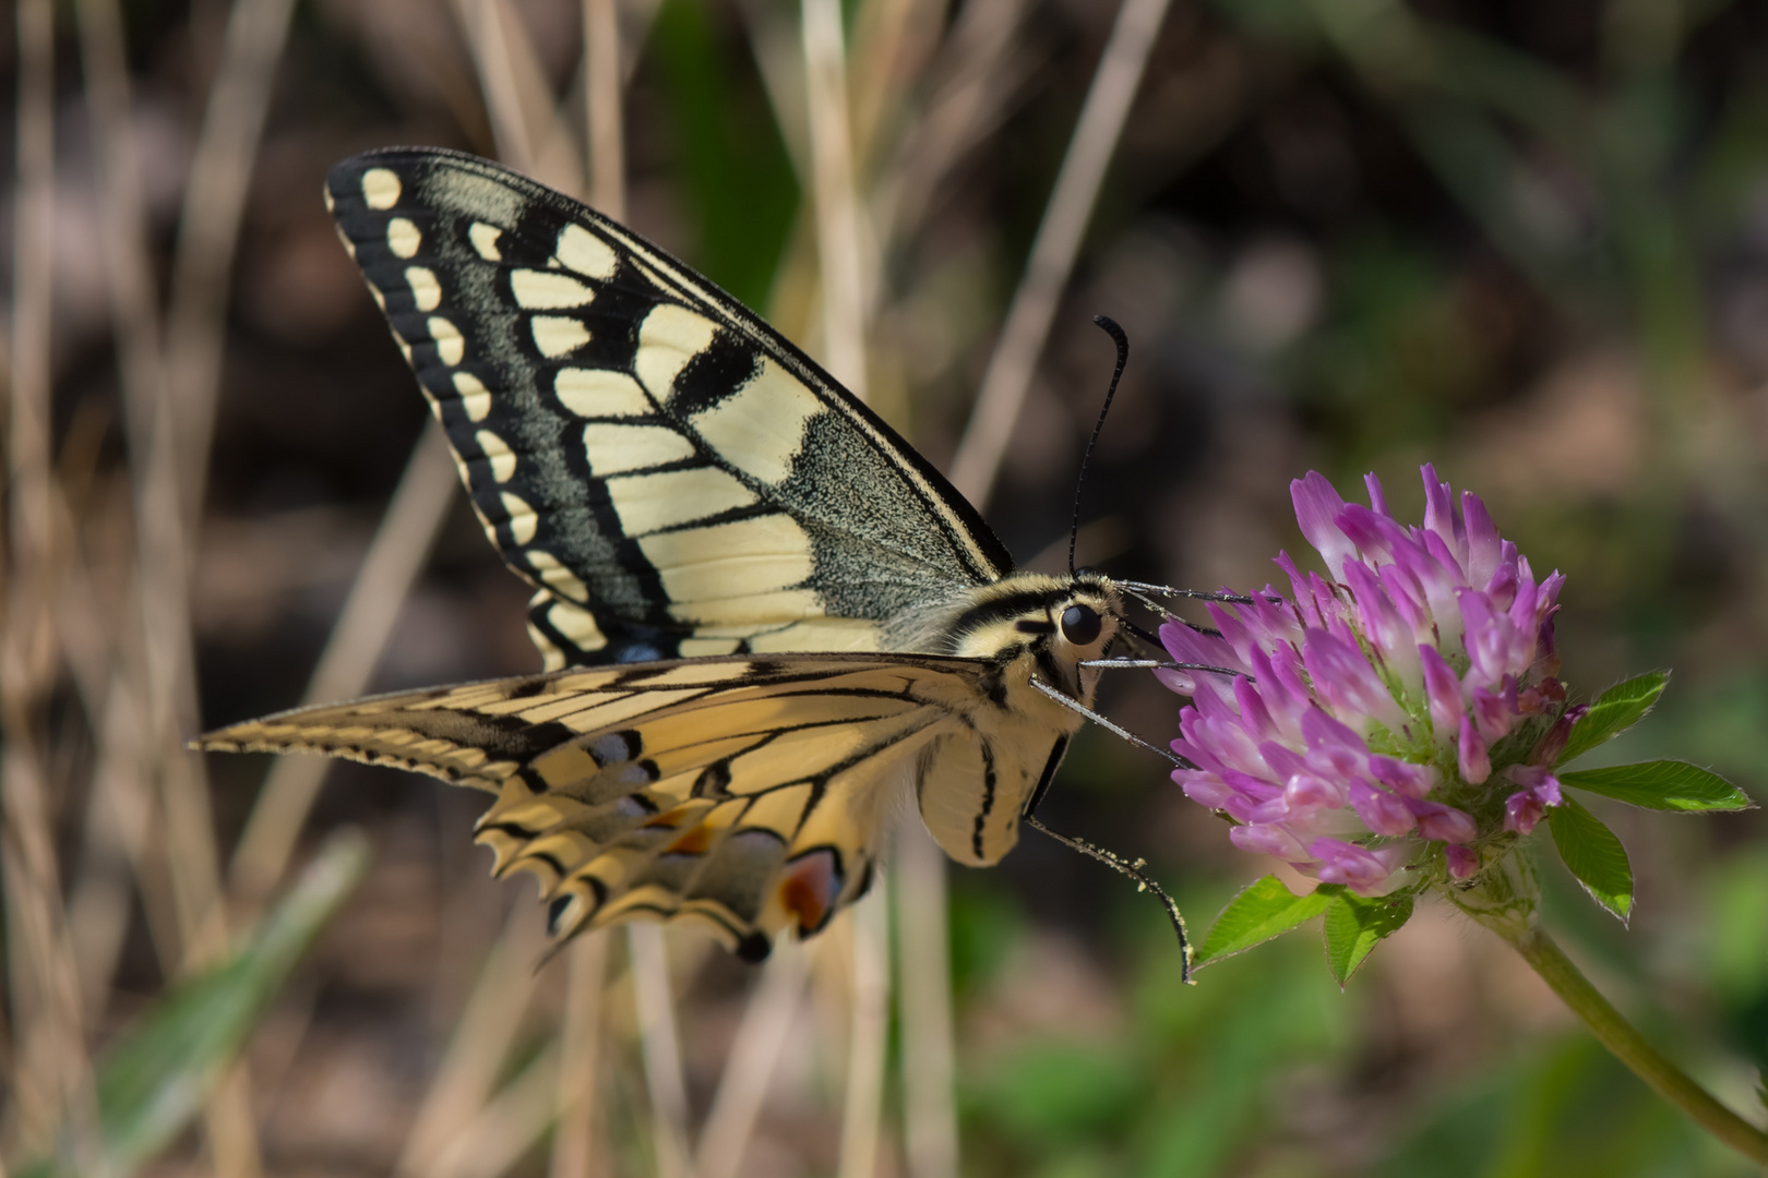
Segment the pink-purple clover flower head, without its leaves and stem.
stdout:
<svg viewBox="0 0 1768 1178">
<path fill-rule="evenodd" d="M 1536 579 L 1430 466 L 1421 526 L 1365 482 L 1367 507 L 1319 473 L 1292 482 L 1330 576 L 1280 555 L 1287 595 L 1211 604 L 1213 632 L 1169 620 L 1181 666 L 1156 675 L 1192 698 L 1172 779 L 1236 846 L 1384 895 L 1478 874 L 1559 805 L 1549 766 L 1577 715 L 1552 634 L 1563 578 Z"/>
</svg>

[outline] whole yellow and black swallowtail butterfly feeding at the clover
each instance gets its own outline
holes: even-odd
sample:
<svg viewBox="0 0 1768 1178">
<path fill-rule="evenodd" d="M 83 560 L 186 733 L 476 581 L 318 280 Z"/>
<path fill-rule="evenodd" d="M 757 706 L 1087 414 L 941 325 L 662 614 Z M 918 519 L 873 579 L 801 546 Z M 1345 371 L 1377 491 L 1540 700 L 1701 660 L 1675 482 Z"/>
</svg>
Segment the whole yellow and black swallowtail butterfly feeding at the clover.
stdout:
<svg viewBox="0 0 1768 1178">
<path fill-rule="evenodd" d="M 691 918 L 744 955 L 872 881 L 912 797 L 997 862 L 1093 701 L 1109 578 L 1015 572 L 974 509 L 734 298 L 497 164 L 400 148 L 327 203 L 534 586 L 546 671 L 235 724 L 495 795 L 495 871 L 569 936 Z M 1059 696 L 1059 698 L 1057 698 Z"/>
</svg>

